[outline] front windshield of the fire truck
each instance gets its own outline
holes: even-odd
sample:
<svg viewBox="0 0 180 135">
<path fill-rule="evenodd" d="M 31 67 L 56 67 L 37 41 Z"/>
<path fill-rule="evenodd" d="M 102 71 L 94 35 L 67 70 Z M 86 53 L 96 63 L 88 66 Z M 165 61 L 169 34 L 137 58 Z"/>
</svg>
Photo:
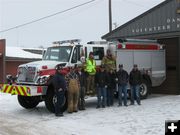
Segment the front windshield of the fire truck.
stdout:
<svg viewBox="0 0 180 135">
<path fill-rule="evenodd" d="M 47 49 L 43 60 L 53 60 L 68 62 L 72 51 L 72 46 L 58 46 Z"/>
</svg>

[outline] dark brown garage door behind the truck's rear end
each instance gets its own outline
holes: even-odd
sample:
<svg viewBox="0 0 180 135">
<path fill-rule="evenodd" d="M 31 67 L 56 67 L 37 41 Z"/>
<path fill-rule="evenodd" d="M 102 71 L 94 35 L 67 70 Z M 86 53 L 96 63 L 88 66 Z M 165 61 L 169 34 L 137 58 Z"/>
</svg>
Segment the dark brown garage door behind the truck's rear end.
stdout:
<svg viewBox="0 0 180 135">
<path fill-rule="evenodd" d="M 153 93 L 179 94 L 178 93 L 178 38 L 160 39 L 166 48 L 166 81 Z"/>
</svg>

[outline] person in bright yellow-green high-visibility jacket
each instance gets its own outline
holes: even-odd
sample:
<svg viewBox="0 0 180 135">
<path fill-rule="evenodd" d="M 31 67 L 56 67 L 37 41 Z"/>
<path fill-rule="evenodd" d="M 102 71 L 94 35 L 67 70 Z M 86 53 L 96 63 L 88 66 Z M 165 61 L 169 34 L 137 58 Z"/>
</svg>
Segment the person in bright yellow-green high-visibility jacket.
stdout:
<svg viewBox="0 0 180 135">
<path fill-rule="evenodd" d="M 93 93 L 94 90 L 94 78 L 96 74 L 96 61 L 94 60 L 93 52 L 89 53 L 89 58 L 86 60 L 87 72 L 87 94 Z"/>
</svg>

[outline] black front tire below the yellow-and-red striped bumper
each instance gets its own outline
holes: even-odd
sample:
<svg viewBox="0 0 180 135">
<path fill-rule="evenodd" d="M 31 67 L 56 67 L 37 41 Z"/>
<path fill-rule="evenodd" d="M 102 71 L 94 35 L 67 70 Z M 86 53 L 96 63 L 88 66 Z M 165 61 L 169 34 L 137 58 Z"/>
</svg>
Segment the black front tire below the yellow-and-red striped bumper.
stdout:
<svg viewBox="0 0 180 135">
<path fill-rule="evenodd" d="M 28 96 L 18 95 L 18 102 L 22 107 L 26 109 L 31 109 L 31 108 L 36 107 L 39 104 L 40 99 L 38 96 L 28 97 Z"/>
</svg>

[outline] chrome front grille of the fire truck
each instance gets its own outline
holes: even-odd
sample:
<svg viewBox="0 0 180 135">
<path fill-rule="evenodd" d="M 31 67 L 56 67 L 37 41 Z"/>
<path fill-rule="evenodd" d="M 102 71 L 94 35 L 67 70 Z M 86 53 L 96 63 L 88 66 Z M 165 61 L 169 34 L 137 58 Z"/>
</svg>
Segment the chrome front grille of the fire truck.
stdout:
<svg viewBox="0 0 180 135">
<path fill-rule="evenodd" d="M 34 82 L 36 75 L 36 67 L 19 67 L 18 68 L 18 82 Z"/>
</svg>

